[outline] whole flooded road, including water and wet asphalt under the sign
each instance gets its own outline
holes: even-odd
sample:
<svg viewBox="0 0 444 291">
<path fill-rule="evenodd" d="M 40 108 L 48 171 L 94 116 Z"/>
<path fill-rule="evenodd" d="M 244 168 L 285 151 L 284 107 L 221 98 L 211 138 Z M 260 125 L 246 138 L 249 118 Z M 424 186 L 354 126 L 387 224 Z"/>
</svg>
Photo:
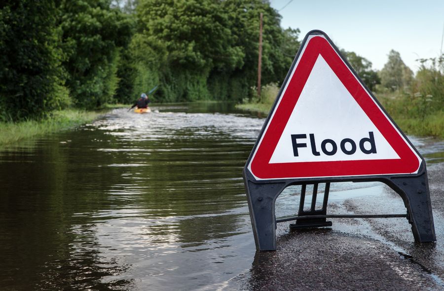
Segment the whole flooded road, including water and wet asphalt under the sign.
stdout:
<svg viewBox="0 0 444 291">
<path fill-rule="evenodd" d="M 444 289 L 443 142 L 412 138 L 432 169 L 436 244 L 414 244 L 406 219 L 334 219 L 279 224 L 277 252 L 257 254 L 241 173 L 264 119 L 217 103 L 152 109 L 0 149 L 0 290 L 333 290 L 341 277 L 312 268 L 339 260 L 356 280 L 383 261 L 395 287 Z M 278 197 L 277 217 L 296 214 L 298 191 Z M 381 183 L 332 184 L 328 213 L 405 211 Z"/>
</svg>

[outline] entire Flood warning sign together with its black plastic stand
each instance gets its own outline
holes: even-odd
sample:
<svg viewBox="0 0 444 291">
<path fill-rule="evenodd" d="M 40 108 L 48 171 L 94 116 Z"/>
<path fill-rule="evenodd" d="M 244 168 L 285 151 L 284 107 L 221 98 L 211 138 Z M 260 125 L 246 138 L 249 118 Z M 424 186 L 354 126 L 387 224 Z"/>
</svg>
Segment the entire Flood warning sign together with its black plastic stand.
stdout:
<svg viewBox="0 0 444 291">
<path fill-rule="evenodd" d="M 259 251 L 276 250 L 276 223 L 331 226 L 332 217 L 407 217 L 415 241 L 436 240 L 424 159 L 321 31 L 309 32 L 245 165 L 244 182 Z M 383 182 L 407 214 L 327 215 L 332 182 Z M 318 185 L 325 183 L 321 209 Z M 302 185 L 298 216 L 276 221 L 276 198 Z M 304 211 L 306 186 L 313 185 Z"/>
</svg>

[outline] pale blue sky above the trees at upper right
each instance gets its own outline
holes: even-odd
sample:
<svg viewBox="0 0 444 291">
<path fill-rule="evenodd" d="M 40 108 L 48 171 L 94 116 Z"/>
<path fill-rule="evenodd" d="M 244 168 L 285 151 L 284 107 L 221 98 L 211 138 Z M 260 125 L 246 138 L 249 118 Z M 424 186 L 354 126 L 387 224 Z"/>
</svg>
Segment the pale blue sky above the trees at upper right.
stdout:
<svg viewBox="0 0 444 291">
<path fill-rule="evenodd" d="M 368 59 L 373 69 L 383 68 L 391 49 L 414 72 L 419 68 L 415 60 L 440 55 L 444 0 L 270 0 L 270 4 L 281 9 L 281 26 L 298 28 L 300 39 L 311 30 L 321 30 L 337 47 Z"/>
</svg>

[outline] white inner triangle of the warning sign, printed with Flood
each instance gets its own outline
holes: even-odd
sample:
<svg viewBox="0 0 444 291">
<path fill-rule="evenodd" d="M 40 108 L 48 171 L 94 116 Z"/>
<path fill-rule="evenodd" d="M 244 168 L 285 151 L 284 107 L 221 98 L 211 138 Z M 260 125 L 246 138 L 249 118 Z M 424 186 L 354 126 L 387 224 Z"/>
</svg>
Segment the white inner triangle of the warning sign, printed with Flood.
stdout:
<svg viewBox="0 0 444 291">
<path fill-rule="evenodd" d="M 319 55 L 269 162 L 379 159 L 399 156 Z"/>
</svg>

